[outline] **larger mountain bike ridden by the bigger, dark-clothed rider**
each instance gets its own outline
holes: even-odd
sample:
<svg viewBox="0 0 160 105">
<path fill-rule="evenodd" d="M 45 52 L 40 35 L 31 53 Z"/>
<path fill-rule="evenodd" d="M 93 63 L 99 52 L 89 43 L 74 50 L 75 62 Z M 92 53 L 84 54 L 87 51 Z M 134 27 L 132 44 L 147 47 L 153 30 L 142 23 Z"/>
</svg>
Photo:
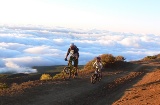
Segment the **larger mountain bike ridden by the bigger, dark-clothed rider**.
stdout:
<svg viewBox="0 0 160 105">
<path fill-rule="evenodd" d="M 68 60 L 65 60 L 65 61 L 68 61 Z M 71 77 L 75 78 L 77 69 L 76 67 L 73 66 L 72 64 L 73 61 L 74 61 L 74 58 L 70 57 L 70 60 L 68 61 L 68 66 L 64 67 L 62 71 L 64 79 L 70 79 Z"/>
</svg>

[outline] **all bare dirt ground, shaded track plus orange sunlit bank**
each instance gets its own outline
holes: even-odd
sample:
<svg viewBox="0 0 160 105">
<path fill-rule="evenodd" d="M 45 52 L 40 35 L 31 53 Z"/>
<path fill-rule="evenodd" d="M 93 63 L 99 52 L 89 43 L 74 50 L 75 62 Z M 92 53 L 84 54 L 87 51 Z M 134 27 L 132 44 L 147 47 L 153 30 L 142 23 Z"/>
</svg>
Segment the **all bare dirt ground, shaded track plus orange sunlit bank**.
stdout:
<svg viewBox="0 0 160 105">
<path fill-rule="evenodd" d="M 132 62 L 126 68 L 106 69 L 95 84 L 90 83 L 90 75 L 30 81 L 20 89 L 0 91 L 0 105 L 160 105 L 159 62 Z"/>
</svg>

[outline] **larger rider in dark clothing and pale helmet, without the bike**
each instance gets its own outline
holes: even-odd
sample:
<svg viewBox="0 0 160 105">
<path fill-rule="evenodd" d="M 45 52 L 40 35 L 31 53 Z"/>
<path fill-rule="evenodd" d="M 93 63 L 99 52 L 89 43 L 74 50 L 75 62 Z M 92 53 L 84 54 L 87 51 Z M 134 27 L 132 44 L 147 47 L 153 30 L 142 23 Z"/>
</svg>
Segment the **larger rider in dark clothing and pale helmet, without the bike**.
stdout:
<svg viewBox="0 0 160 105">
<path fill-rule="evenodd" d="M 77 76 L 78 75 L 79 49 L 77 48 L 77 46 L 74 43 L 70 44 L 70 47 L 68 48 L 68 51 L 67 51 L 67 54 L 65 57 L 65 61 L 67 61 L 68 55 L 70 55 L 69 60 L 68 60 L 68 65 L 69 65 L 69 63 L 72 63 L 72 61 L 74 62 L 74 67 L 76 68 L 75 76 Z"/>
</svg>

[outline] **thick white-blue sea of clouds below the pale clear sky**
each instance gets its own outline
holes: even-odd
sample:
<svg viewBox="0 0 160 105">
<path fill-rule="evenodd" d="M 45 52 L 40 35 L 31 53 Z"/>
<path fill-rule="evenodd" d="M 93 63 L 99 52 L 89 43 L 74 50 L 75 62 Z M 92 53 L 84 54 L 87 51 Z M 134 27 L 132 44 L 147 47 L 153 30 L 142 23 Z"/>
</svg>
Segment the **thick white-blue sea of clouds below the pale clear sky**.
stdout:
<svg viewBox="0 0 160 105">
<path fill-rule="evenodd" d="M 66 65 L 70 43 L 80 51 L 79 64 L 101 54 L 127 61 L 160 53 L 160 35 L 81 30 L 63 27 L 0 26 L 0 73 L 36 72 L 33 66 Z"/>
</svg>

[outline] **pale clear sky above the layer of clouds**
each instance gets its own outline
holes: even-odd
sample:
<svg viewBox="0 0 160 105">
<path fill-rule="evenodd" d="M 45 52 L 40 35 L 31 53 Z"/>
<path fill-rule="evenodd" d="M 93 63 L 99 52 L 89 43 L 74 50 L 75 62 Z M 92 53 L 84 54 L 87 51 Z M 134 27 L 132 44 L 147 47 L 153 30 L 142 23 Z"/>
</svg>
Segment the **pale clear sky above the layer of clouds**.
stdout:
<svg viewBox="0 0 160 105">
<path fill-rule="evenodd" d="M 1 0 L 0 24 L 160 34 L 159 0 Z"/>
</svg>

